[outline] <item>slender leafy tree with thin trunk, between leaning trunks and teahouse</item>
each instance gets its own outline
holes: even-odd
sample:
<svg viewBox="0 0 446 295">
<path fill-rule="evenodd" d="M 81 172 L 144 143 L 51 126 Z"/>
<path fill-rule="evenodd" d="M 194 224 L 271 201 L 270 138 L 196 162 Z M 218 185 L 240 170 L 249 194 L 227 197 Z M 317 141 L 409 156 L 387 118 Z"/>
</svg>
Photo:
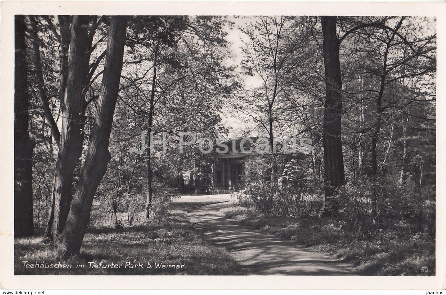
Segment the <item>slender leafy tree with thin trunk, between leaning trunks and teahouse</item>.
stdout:
<svg viewBox="0 0 446 295">
<path fill-rule="evenodd" d="M 127 43 L 133 53 L 137 52 L 135 56 L 140 56 L 141 62 L 136 71 L 123 74 L 125 81 L 130 82 L 125 95 L 130 92 L 132 97 L 140 101 L 133 109 L 143 115 L 145 124 L 141 127 L 148 131 L 148 135 L 160 131 L 174 133 L 178 125 L 184 125 L 195 115 L 195 113 L 186 115 L 184 109 L 178 110 L 179 102 L 171 100 L 172 96 L 178 98 L 173 92 L 178 91 L 179 87 L 186 88 L 190 82 L 195 84 L 179 94 L 190 100 L 186 102 L 189 108 L 194 105 L 191 101 L 193 98 L 186 98 L 192 96 L 191 89 L 196 91 L 198 99 L 200 96 L 205 99 L 209 95 L 207 93 L 211 93 L 211 87 L 218 83 L 216 77 L 223 76 L 226 69 L 221 66 L 219 60 L 222 55 L 219 52 L 220 46 L 223 47 L 225 44 L 223 22 L 220 17 L 208 16 L 138 16 L 129 21 Z M 206 46 L 200 46 L 201 42 Z M 138 74 L 139 72 L 143 74 Z M 212 86 L 209 87 L 201 84 L 211 81 L 213 81 Z M 203 93 L 202 88 L 204 88 Z M 224 91 L 223 87 L 221 89 Z M 165 122 L 166 115 L 170 115 L 172 109 L 185 118 L 178 118 L 176 122 Z M 158 117 L 159 113 L 163 113 L 164 118 Z M 199 122 L 196 123 L 200 125 Z M 166 124 L 169 127 L 163 126 Z M 151 141 L 148 136 L 149 147 L 152 145 Z M 152 183 L 153 170 L 156 169 L 153 167 L 155 159 L 150 150 L 149 148 L 146 151 L 147 218 L 150 216 L 154 201 Z"/>
</svg>

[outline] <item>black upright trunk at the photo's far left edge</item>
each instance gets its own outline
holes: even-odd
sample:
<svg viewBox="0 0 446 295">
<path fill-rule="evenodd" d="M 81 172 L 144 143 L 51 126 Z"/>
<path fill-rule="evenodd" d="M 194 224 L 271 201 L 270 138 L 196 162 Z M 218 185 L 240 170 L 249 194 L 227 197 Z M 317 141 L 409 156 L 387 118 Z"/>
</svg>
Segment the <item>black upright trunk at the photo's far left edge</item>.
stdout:
<svg viewBox="0 0 446 295">
<path fill-rule="evenodd" d="M 15 16 L 14 69 L 14 236 L 32 235 L 33 226 L 33 148 L 29 138 L 29 95 L 25 61 L 25 18 Z"/>
</svg>

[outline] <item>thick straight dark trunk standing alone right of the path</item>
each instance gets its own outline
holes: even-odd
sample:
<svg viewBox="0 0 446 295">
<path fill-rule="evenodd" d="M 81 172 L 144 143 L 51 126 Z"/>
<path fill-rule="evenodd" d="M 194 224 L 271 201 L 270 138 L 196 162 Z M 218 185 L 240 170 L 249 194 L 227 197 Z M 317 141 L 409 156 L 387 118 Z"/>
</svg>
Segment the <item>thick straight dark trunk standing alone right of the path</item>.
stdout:
<svg viewBox="0 0 446 295">
<path fill-rule="evenodd" d="M 324 111 L 324 166 L 325 195 L 330 197 L 335 189 L 345 184 L 341 139 L 342 81 L 339 62 L 339 39 L 336 35 L 336 16 L 321 16 L 324 37 L 325 66 Z"/>
</svg>

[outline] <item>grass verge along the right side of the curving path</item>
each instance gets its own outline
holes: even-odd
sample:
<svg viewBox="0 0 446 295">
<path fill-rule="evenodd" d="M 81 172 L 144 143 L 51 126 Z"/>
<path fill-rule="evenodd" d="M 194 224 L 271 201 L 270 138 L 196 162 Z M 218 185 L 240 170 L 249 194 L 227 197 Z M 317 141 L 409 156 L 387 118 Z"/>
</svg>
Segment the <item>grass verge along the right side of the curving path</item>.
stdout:
<svg viewBox="0 0 446 295">
<path fill-rule="evenodd" d="M 231 205 L 221 210 L 226 218 L 255 229 L 325 251 L 350 262 L 358 275 L 435 275 L 435 240 L 411 235 L 403 225 L 374 238 L 352 236 L 335 219 L 266 216 L 249 207 Z M 427 268 L 427 271 L 425 271 Z"/>
</svg>

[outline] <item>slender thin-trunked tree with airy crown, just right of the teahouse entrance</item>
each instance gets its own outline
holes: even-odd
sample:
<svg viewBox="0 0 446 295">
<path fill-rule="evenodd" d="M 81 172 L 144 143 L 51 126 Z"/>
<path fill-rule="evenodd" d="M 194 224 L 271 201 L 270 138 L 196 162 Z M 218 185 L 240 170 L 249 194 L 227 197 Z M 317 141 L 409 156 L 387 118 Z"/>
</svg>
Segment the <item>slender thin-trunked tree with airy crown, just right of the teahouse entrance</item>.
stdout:
<svg viewBox="0 0 446 295">
<path fill-rule="evenodd" d="M 268 149 L 272 155 L 268 202 L 271 208 L 277 190 L 277 156 L 273 152 L 276 149 L 275 136 L 286 134 L 285 125 L 293 126 L 284 123 L 290 118 L 284 110 L 293 92 L 293 71 L 311 54 L 304 49 L 311 26 L 312 23 L 302 16 L 259 16 L 248 26 L 240 28 L 249 37 L 243 48 L 246 59 L 242 65 L 247 74 L 259 78 L 261 85 L 246 89 L 244 99 L 238 98 L 235 107 L 237 112 L 258 125 L 261 133 L 266 131 L 269 137 Z"/>
</svg>

